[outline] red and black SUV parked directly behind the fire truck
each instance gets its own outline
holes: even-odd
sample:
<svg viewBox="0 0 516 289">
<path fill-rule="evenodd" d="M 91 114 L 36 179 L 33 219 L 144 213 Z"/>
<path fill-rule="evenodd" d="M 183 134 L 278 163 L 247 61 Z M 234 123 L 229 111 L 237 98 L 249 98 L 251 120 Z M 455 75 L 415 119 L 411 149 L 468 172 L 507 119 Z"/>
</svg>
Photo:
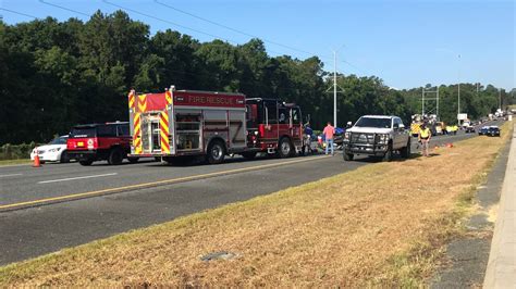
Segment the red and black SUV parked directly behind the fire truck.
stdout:
<svg viewBox="0 0 516 289">
<path fill-rule="evenodd" d="M 127 158 L 131 140 L 127 122 L 77 125 L 70 133 L 66 148 L 70 158 L 77 159 L 82 165 L 95 161 L 119 165 L 124 159 L 136 163 L 138 158 Z"/>
</svg>

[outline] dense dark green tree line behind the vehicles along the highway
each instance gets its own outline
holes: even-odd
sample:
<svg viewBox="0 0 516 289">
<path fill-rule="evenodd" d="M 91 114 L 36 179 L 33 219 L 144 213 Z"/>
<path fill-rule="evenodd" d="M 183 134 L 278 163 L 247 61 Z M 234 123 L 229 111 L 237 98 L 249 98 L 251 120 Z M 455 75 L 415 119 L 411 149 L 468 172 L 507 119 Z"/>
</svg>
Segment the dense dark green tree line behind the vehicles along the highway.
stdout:
<svg viewBox="0 0 516 289">
<path fill-rule="evenodd" d="M 47 141 L 75 124 L 127 120 L 126 95 L 177 89 L 243 92 L 295 102 L 312 126 L 333 120 L 333 79 L 317 56 L 270 56 L 260 39 L 233 46 L 200 42 L 149 26 L 123 11 L 97 11 L 87 22 L 0 21 L 0 144 Z M 339 125 L 363 114 L 420 111 L 420 89 L 394 90 L 376 76 L 339 75 Z M 456 86 L 441 86 L 442 117 L 454 120 Z M 497 108 L 497 90 L 463 84 L 460 103 L 474 117 Z M 514 95 L 514 93 L 513 93 Z M 515 103 L 504 92 L 504 103 Z"/>
</svg>

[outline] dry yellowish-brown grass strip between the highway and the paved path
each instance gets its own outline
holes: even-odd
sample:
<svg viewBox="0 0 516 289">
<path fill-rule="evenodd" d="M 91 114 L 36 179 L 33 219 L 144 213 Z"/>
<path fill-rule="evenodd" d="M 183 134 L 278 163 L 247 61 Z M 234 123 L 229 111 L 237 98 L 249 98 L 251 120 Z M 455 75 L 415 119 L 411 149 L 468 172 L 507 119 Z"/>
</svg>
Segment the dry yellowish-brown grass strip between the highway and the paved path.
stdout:
<svg viewBox="0 0 516 289">
<path fill-rule="evenodd" d="M 419 286 L 509 128 L 1 267 L 0 286 Z"/>
</svg>

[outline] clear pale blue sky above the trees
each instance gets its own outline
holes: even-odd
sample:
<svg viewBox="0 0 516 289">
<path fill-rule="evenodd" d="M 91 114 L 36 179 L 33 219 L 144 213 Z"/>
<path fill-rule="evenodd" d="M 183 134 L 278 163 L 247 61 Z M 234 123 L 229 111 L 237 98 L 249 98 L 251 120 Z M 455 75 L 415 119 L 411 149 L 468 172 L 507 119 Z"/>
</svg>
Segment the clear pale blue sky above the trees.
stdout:
<svg viewBox="0 0 516 289">
<path fill-rule="evenodd" d="M 152 33 L 172 28 L 200 41 L 210 41 L 217 36 L 234 45 L 250 39 L 247 35 L 180 13 L 153 0 L 109 1 L 169 22 L 127 11 L 132 18 L 149 24 Z M 332 71 L 332 49 L 339 50 L 339 72 L 377 75 L 395 88 L 428 83 L 455 84 L 458 79 L 505 89 L 516 87 L 516 4 L 513 0 L 159 1 L 266 39 L 270 55 L 288 54 L 305 59 L 315 54 L 324 61 L 325 70 Z M 107 13 L 118 10 L 101 0 L 45 2 L 86 14 L 97 9 Z M 32 18 L 7 10 L 36 17 L 51 15 L 59 20 L 87 20 L 83 14 L 39 0 L 2 0 L 0 8 L 4 9 L 0 13 L 9 24 Z"/>
</svg>

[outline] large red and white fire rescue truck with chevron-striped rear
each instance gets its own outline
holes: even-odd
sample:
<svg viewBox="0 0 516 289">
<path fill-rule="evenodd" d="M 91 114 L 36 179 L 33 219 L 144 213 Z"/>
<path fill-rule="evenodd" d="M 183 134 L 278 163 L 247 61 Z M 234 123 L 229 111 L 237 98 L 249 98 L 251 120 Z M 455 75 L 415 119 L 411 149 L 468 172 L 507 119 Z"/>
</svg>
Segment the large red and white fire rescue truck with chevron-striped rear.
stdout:
<svg viewBox="0 0 516 289">
<path fill-rule="evenodd" d="M 299 106 L 242 93 L 175 90 L 128 95 L 131 156 L 205 155 L 209 163 L 228 154 L 253 159 L 258 152 L 293 156 L 303 147 Z"/>
</svg>

